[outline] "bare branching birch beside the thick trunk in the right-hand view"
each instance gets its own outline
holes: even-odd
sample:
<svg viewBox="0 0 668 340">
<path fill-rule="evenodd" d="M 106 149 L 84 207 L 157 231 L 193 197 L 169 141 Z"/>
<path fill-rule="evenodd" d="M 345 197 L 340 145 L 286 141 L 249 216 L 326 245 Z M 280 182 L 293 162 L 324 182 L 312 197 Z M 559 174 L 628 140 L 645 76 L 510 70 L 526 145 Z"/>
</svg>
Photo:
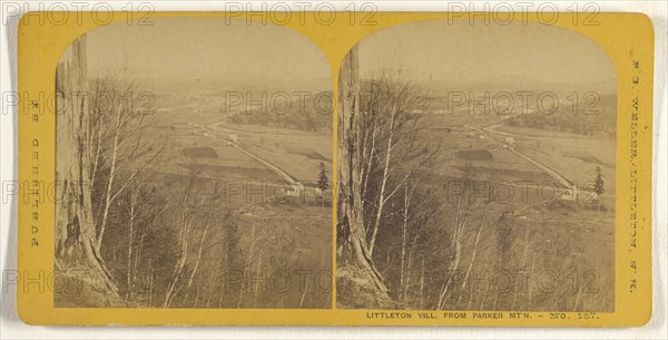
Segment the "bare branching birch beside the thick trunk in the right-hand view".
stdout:
<svg viewBox="0 0 668 340">
<path fill-rule="evenodd" d="M 371 221 L 366 229 L 369 251 L 373 255 L 387 203 L 401 193 L 415 171 L 433 159 L 440 142 L 421 135 L 425 126 L 419 113 L 429 107 L 426 94 L 405 79 L 401 70 L 372 77 L 362 93 L 360 181 L 364 211 Z"/>
</svg>

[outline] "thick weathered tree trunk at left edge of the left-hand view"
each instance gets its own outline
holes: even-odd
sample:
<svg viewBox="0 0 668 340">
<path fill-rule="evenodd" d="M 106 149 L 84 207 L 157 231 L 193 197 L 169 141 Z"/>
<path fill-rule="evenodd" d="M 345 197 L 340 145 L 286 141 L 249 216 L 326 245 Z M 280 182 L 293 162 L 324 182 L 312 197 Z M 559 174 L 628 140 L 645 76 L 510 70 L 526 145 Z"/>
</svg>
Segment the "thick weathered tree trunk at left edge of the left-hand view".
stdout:
<svg viewBox="0 0 668 340">
<path fill-rule="evenodd" d="M 97 289 L 104 289 L 108 304 L 118 304 L 118 289 L 105 266 L 96 246 L 96 231 L 92 222 L 90 179 L 89 108 L 86 76 L 86 37 L 77 39 L 68 49 L 57 69 L 57 89 L 65 94 L 69 105 L 59 107 L 56 117 L 56 181 L 58 204 L 56 205 L 56 256 L 55 276 L 56 304 L 58 291 L 65 286 L 60 280 L 70 270 L 84 270 Z M 60 271 L 58 271 L 60 270 Z M 62 275 L 61 275 L 62 274 Z M 91 283 L 91 284 L 94 284 Z M 101 285 L 104 286 L 99 286 Z M 67 302 L 67 301 L 63 301 Z M 99 302 L 99 301 L 96 301 Z"/>
</svg>

